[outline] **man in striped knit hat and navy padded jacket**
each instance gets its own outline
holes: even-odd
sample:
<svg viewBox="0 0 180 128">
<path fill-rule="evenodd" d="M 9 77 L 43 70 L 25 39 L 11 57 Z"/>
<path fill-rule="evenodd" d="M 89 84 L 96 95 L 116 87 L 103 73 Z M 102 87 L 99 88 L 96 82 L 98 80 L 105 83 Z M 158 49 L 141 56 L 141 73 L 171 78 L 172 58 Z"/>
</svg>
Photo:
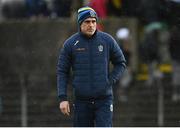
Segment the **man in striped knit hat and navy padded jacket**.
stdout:
<svg viewBox="0 0 180 128">
<path fill-rule="evenodd" d="M 72 69 L 76 127 L 112 126 L 112 87 L 126 67 L 124 55 L 116 41 L 109 34 L 96 29 L 97 20 L 97 14 L 92 8 L 80 8 L 79 32 L 65 41 L 58 58 L 59 108 L 63 114 L 70 114 L 66 92 Z M 114 65 L 111 73 L 110 61 Z"/>
</svg>

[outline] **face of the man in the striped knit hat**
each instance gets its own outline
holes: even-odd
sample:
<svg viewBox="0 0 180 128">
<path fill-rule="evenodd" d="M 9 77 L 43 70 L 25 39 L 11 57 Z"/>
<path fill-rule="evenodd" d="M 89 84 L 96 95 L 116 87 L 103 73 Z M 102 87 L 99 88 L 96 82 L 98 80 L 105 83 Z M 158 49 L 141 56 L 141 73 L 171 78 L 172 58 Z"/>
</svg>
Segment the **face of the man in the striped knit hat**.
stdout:
<svg viewBox="0 0 180 128">
<path fill-rule="evenodd" d="M 96 31 L 96 18 L 85 19 L 82 22 L 80 29 L 86 36 L 91 37 Z"/>
</svg>

